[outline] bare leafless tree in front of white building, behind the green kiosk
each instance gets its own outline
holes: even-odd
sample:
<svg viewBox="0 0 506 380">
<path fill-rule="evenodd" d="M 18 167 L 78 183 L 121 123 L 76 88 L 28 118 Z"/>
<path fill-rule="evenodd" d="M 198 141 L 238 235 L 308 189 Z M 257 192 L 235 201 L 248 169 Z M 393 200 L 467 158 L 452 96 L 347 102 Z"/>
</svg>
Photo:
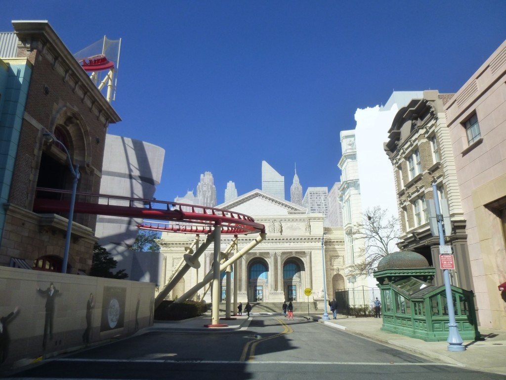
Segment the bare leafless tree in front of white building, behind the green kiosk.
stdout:
<svg viewBox="0 0 506 380">
<path fill-rule="evenodd" d="M 351 234 L 353 240 L 363 240 L 364 247 L 359 252 L 361 259 L 350 265 L 349 276 L 368 276 L 376 270 L 379 260 L 397 250 L 399 219 L 389 217 L 388 210 L 375 206 L 366 210 Z"/>
</svg>

